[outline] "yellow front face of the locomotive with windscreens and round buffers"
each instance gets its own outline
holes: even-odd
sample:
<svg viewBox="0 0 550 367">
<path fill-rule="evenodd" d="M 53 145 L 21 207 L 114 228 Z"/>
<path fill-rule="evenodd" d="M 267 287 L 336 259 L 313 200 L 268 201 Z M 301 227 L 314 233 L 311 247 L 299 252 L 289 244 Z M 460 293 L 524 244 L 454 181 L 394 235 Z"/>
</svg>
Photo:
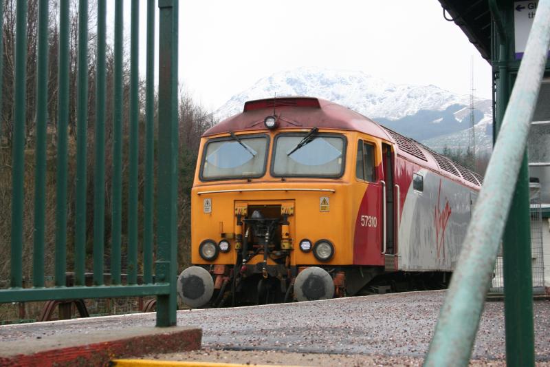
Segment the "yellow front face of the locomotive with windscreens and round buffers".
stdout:
<svg viewBox="0 0 550 367">
<path fill-rule="evenodd" d="M 317 224 L 329 229 L 323 238 L 317 238 L 320 231 L 314 221 L 318 213 L 331 216 L 335 185 L 344 182 L 346 147 L 345 134 L 320 132 L 317 127 L 204 138 L 192 189 L 195 266 L 181 274 L 178 286 L 184 302 L 219 306 L 236 299 L 254 304 L 294 296 L 333 297 L 333 279 L 327 271 L 318 268 L 298 277 L 304 269 L 297 264 L 327 264 L 337 255 L 333 241 L 342 242 L 338 220 L 317 218 Z M 337 213 L 333 209 L 333 216 Z M 307 217 L 312 222 L 307 223 Z M 301 231 L 297 220 L 303 221 Z M 309 235 L 300 237 L 306 231 Z M 201 282 L 203 293 L 196 291 Z M 301 293 L 294 295 L 296 282 Z M 195 291 L 186 294 L 190 288 Z"/>
</svg>

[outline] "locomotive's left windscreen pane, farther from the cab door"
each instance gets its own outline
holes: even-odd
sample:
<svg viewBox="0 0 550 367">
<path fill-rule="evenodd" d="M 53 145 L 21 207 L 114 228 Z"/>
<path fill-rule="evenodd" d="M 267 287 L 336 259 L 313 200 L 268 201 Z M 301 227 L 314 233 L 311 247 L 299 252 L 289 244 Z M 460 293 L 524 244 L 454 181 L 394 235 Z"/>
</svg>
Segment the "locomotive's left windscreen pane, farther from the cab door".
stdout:
<svg viewBox="0 0 550 367">
<path fill-rule="evenodd" d="M 201 178 L 223 180 L 263 176 L 267 136 L 239 135 L 239 140 L 224 138 L 206 143 Z"/>
</svg>

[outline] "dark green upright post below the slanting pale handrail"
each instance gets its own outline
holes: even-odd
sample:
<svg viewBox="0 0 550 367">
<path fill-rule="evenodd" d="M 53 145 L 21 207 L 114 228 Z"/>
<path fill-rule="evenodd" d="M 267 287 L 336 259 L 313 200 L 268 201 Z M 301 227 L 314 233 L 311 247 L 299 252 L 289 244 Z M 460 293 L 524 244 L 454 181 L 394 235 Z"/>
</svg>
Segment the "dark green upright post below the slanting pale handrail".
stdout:
<svg viewBox="0 0 550 367">
<path fill-rule="evenodd" d="M 503 237 L 507 366 L 534 366 L 529 168 L 524 154 Z"/>
</svg>

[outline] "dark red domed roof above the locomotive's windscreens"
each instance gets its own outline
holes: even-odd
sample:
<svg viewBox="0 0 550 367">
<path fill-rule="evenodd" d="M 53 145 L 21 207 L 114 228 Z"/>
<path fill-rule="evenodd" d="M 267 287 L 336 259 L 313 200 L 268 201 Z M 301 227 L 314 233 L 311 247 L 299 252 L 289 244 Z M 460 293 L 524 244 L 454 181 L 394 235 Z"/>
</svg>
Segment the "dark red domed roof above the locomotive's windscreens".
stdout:
<svg viewBox="0 0 550 367">
<path fill-rule="evenodd" d="M 267 98 L 248 101 L 241 114 L 221 121 L 208 129 L 203 136 L 230 131 L 263 130 L 265 129 L 263 120 L 272 115 L 274 110 L 278 116 L 279 128 L 318 127 L 319 129 L 353 130 L 392 141 L 391 136 L 370 118 L 342 105 L 311 97 Z"/>
</svg>

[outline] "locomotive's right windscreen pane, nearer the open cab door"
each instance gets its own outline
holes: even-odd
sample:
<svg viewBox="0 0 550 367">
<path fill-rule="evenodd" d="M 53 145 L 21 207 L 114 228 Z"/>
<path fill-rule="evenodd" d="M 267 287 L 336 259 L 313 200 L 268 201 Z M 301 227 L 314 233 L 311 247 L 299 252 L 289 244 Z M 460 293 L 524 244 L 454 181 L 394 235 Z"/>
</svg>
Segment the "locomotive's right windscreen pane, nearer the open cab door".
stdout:
<svg viewBox="0 0 550 367">
<path fill-rule="evenodd" d="M 344 138 L 342 136 L 316 134 L 311 136 L 310 140 L 304 144 L 304 136 L 305 134 L 278 136 L 273 158 L 273 175 L 280 177 L 342 176 Z M 300 147 L 296 149 L 298 146 Z"/>
</svg>

